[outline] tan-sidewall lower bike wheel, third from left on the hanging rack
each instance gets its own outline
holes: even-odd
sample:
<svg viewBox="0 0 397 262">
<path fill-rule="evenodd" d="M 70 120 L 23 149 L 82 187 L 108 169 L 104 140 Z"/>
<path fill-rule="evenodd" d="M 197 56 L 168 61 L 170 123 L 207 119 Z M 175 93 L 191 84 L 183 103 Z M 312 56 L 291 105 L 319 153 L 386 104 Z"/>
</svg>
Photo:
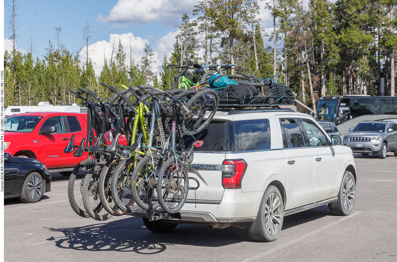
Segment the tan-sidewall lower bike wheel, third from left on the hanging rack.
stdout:
<svg viewBox="0 0 397 262">
<path fill-rule="evenodd" d="M 112 180 L 112 175 L 118 164 L 123 160 L 125 160 L 124 157 L 114 157 L 108 160 L 102 168 L 99 176 L 98 188 L 100 202 L 106 211 L 113 216 L 122 216 L 125 214 L 125 212 L 117 206 L 116 202 L 113 200 L 112 193 L 110 192 L 110 181 Z"/>
</svg>

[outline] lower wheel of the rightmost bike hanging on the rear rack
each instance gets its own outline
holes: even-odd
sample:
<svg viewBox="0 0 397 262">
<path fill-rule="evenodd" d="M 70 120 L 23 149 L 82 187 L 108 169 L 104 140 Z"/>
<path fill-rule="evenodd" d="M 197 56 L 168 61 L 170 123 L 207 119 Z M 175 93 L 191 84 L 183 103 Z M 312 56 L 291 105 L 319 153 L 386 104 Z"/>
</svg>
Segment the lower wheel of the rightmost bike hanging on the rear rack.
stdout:
<svg viewBox="0 0 397 262">
<path fill-rule="evenodd" d="M 177 171 L 175 157 L 168 159 L 162 165 L 157 177 L 157 196 L 160 206 L 167 213 L 175 214 L 185 204 L 188 191 L 189 178 L 186 167 L 179 166 Z"/>
</svg>

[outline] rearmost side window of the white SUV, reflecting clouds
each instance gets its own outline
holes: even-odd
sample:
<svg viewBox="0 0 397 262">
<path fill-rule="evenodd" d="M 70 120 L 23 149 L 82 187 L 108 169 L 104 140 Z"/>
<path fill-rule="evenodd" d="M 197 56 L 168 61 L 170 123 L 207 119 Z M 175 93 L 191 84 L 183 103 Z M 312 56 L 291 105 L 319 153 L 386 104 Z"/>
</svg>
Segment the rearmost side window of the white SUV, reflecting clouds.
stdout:
<svg viewBox="0 0 397 262">
<path fill-rule="evenodd" d="M 235 151 L 270 149 L 269 119 L 234 121 Z"/>
</svg>

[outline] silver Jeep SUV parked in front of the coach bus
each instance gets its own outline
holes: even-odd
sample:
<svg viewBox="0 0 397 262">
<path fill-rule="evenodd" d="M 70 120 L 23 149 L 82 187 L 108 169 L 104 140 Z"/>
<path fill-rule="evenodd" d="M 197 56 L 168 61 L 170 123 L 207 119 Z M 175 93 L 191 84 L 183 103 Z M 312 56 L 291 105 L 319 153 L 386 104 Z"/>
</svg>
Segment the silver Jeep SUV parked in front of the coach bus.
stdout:
<svg viewBox="0 0 397 262">
<path fill-rule="evenodd" d="M 363 121 L 343 138 L 343 145 L 349 146 L 353 153 L 378 154 L 386 158 L 387 152 L 397 156 L 397 124 L 393 121 Z"/>
</svg>

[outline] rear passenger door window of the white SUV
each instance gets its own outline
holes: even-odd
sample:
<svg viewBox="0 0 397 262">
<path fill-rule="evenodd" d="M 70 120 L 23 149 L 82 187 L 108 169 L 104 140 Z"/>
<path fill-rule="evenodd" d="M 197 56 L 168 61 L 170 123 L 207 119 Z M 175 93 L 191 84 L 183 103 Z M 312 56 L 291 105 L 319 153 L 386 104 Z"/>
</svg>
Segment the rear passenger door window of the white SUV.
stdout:
<svg viewBox="0 0 397 262">
<path fill-rule="evenodd" d="M 304 147 L 301 129 L 295 118 L 280 119 L 281 127 L 284 129 L 284 148 Z"/>
</svg>

